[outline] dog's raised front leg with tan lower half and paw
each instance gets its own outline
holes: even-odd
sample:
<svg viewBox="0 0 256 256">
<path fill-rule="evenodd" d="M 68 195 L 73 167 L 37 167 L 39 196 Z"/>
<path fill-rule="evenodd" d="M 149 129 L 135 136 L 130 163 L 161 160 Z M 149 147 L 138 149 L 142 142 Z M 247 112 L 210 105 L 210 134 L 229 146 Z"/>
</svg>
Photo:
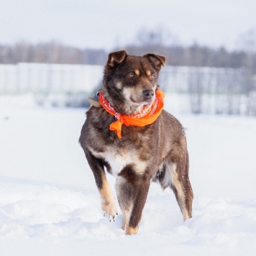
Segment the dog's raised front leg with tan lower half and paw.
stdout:
<svg viewBox="0 0 256 256">
<path fill-rule="evenodd" d="M 91 152 L 86 151 L 86 158 L 88 164 L 93 171 L 93 175 L 96 181 L 96 186 L 101 195 L 101 206 L 104 211 L 104 216 L 113 219 L 116 216 L 116 204 L 114 201 L 114 196 L 111 191 L 111 187 L 106 180 L 106 173 L 104 170 L 104 163 L 101 159 L 94 157 Z"/>
</svg>

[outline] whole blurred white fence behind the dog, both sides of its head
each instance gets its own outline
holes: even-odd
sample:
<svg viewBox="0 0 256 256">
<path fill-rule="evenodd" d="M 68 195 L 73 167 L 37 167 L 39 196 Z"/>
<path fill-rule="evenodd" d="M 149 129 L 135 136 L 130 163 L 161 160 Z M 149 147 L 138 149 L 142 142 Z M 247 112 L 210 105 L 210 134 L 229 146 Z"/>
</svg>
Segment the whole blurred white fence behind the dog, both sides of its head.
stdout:
<svg viewBox="0 0 256 256">
<path fill-rule="evenodd" d="M 102 77 L 101 65 L 0 65 L 0 94 L 31 93 L 41 105 L 85 106 Z M 165 92 L 187 94 L 193 113 L 256 115 L 255 85 L 244 68 L 167 66 L 159 83 Z"/>
</svg>

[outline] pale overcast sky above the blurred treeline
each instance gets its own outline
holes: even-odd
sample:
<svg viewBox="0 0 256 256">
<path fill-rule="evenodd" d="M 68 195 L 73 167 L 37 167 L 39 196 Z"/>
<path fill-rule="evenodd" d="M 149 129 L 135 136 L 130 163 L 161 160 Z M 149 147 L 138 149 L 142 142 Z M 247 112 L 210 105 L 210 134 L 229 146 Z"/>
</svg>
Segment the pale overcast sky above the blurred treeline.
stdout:
<svg viewBox="0 0 256 256">
<path fill-rule="evenodd" d="M 0 0 L 0 44 L 58 40 L 78 47 L 123 47 L 139 29 L 178 42 L 230 49 L 256 28 L 256 0 Z"/>
</svg>

